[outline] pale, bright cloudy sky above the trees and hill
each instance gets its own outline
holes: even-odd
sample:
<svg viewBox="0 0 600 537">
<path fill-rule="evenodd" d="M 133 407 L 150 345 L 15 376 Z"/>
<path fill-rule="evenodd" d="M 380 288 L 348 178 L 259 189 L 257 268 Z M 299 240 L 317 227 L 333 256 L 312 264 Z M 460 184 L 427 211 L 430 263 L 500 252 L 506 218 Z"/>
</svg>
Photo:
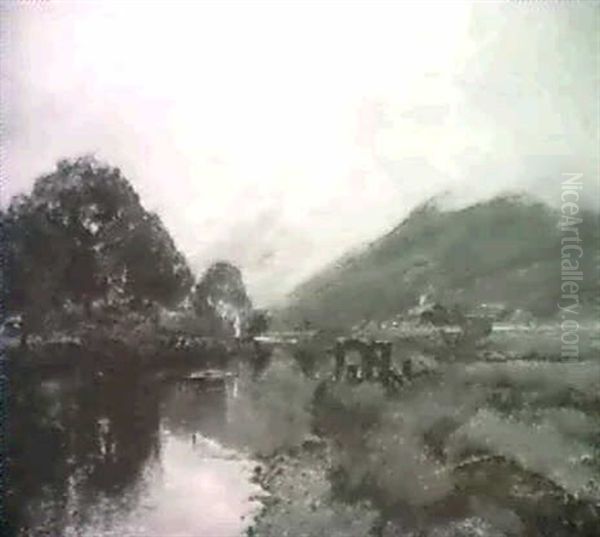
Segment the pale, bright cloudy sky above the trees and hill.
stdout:
<svg viewBox="0 0 600 537">
<path fill-rule="evenodd" d="M 94 153 L 260 305 L 433 195 L 598 207 L 599 5 L 5 1 L 2 204 Z"/>
</svg>

